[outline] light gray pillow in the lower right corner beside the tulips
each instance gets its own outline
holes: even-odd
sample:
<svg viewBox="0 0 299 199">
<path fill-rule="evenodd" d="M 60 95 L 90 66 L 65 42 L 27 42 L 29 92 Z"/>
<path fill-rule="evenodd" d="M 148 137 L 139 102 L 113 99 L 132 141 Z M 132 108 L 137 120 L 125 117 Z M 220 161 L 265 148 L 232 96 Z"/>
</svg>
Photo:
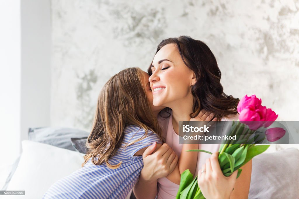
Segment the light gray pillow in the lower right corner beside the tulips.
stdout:
<svg viewBox="0 0 299 199">
<path fill-rule="evenodd" d="M 298 199 L 298 149 L 284 149 L 254 157 L 248 198 Z"/>
</svg>

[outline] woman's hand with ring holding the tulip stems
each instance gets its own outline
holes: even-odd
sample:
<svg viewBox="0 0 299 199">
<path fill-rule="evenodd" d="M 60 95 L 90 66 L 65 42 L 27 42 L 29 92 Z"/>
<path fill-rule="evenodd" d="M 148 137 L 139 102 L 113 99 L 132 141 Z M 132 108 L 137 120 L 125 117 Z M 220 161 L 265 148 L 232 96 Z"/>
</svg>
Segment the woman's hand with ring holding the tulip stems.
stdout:
<svg viewBox="0 0 299 199">
<path fill-rule="evenodd" d="M 223 175 L 218 162 L 219 152 L 212 154 L 198 171 L 198 186 L 207 199 L 228 199 L 236 183 L 238 171 L 229 177 Z M 204 172 L 202 172 L 204 171 Z"/>
</svg>

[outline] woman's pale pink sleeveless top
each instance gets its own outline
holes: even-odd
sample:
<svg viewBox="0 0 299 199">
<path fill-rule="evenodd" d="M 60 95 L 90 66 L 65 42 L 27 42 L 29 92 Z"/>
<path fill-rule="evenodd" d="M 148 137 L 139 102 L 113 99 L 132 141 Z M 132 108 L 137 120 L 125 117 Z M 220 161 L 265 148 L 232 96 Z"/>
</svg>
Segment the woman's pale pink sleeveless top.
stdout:
<svg viewBox="0 0 299 199">
<path fill-rule="evenodd" d="M 230 117 L 222 118 L 221 121 L 237 121 L 239 114 Z M 173 129 L 172 125 L 172 114 L 168 118 L 158 117 L 158 122 L 162 128 L 162 133 L 164 138 L 166 138 L 166 143 L 172 147 L 176 152 L 178 157 L 181 155 L 183 144 L 179 144 L 179 135 Z M 216 152 L 219 150 L 219 144 L 199 144 L 199 149 L 204 149 L 210 152 Z M 202 168 L 202 165 L 205 163 L 206 159 L 210 158 L 208 153 L 199 153 L 197 158 L 196 171 Z M 197 173 L 196 172 L 196 173 Z M 176 198 L 176 194 L 179 190 L 179 185 L 171 182 L 166 177 L 158 179 L 158 199 L 173 199 Z"/>
</svg>

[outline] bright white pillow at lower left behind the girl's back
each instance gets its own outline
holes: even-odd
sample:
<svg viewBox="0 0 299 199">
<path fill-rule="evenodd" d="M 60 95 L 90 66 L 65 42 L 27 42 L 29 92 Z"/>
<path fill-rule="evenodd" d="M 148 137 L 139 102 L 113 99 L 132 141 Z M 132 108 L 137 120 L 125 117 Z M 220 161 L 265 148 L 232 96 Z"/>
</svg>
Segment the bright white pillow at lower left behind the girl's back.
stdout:
<svg viewBox="0 0 299 199">
<path fill-rule="evenodd" d="M 81 168 L 85 154 L 29 140 L 22 141 L 23 153 L 7 190 L 25 190 L 25 195 L 2 198 L 42 198 L 48 188 Z"/>
</svg>

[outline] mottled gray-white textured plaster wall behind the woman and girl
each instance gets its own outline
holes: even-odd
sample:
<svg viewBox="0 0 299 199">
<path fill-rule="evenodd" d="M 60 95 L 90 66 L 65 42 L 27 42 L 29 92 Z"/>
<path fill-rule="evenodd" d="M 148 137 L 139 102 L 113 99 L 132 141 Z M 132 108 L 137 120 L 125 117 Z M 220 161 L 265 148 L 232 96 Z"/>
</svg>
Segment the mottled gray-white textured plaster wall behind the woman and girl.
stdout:
<svg viewBox="0 0 299 199">
<path fill-rule="evenodd" d="M 91 129 L 103 84 L 143 70 L 158 43 L 208 44 L 225 93 L 256 94 L 280 121 L 299 121 L 299 1 L 52 0 L 51 124 Z"/>
</svg>

